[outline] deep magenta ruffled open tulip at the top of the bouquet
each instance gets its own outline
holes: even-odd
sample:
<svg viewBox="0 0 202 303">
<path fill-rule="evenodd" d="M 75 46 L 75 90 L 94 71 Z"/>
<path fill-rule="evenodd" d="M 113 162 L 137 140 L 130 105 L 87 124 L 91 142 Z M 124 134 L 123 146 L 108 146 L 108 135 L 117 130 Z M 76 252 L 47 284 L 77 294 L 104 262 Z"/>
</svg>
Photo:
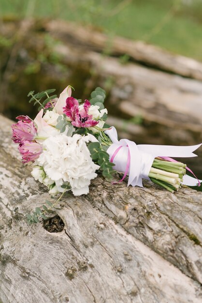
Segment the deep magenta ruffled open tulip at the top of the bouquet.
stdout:
<svg viewBox="0 0 202 303">
<path fill-rule="evenodd" d="M 76 127 L 93 127 L 99 123 L 99 121 L 92 120 L 93 116 L 88 115 L 88 109 L 90 102 L 85 100 L 84 107 L 79 109 L 78 100 L 73 97 L 68 97 L 66 100 L 66 106 L 63 107 L 64 114 L 71 119 L 72 125 Z"/>
</svg>

